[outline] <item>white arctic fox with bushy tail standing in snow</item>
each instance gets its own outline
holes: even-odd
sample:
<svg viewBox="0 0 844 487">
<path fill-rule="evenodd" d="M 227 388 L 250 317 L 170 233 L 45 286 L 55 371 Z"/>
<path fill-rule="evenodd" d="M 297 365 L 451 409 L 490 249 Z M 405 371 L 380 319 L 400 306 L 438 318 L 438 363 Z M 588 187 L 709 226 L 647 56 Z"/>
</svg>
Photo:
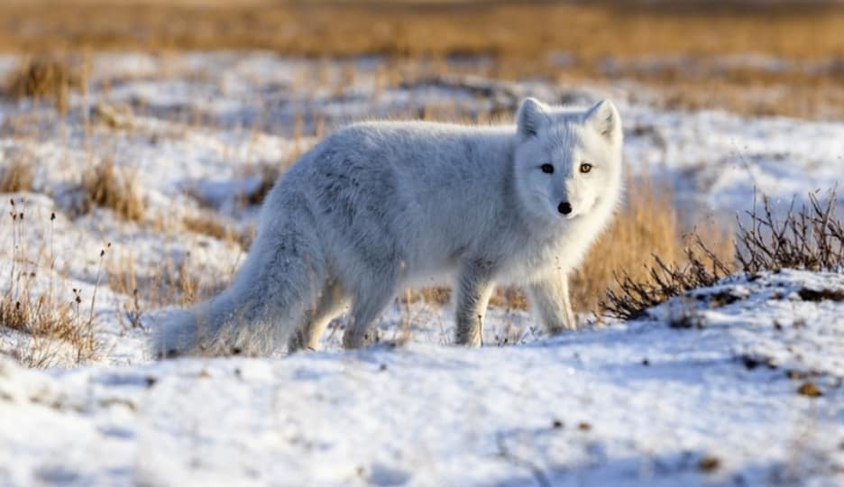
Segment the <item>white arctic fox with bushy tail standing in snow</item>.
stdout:
<svg viewBox="0 0 844 487">
<path fill-rule="evenodd" d="M 181 311 L 159 357 L 316 347 L 351 309 L 357 348 L 404 286 L 455 276 L 456 343 L 481 345 L 497 284 L 523 285 L 551 333 L 576 326 L 567 275 L 622 192 L 622 131 L 610 101 L 522 101 L 515 125 L 353 124 L 284 174 L 261 208 L 229 289 Z"/>
</svg>

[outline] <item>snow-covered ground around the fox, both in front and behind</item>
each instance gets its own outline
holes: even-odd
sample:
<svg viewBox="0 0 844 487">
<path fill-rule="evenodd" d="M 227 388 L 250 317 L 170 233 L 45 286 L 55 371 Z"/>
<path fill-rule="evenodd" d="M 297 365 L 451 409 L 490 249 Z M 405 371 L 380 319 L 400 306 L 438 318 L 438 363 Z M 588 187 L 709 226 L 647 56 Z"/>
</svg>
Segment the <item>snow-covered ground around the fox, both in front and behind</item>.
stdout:
<svg viewBox="0 0 844 487">
<path fill-rule="evenodd" d="M 461 62 L 454 69 L 476 68 Z M 0 77 L 14 65 L 0 58 Z M 411 74 L 393 82 L 391 69 Z M 319 353 L 151 362 L 146 335 L 168 314 L 157 308 L 178 303 L 186 281 L 225 284 L 245 252 L 242 239 L 197 234 L 185 218 L 213 217 L 248 239 L 257 208 L 243 199 L 264 171 L 349 121 L 485 121 L 519 96 L 609 96 L 631 173 L 671 182 L 690 215 L 747 209 L 754 188 L 788 202 L 844 179 L 844 124 L 665 111 L 647 103 L 657 94 L 623 83 L 419 69 L 122 53 L 94 57 L 91 89 L 71 96 L 63 119 L 0 98 L 2 164 L 34 169 L 32 191 L 3 195 L 26 217 L 0 219 L 0 290 L 14 284 L 13 263 L 60 302 L 77 289 L 100 344 L 83 366 L 23 370 L 2 357 L 30 338 L 0 328 L 0 485 L 844 482 L 835 274 L 736 277 L 649 319 L 553 339 L 525 312 L 492 309 L 480 350 L 448 345 L 447 308 L 397 302 L 379 327 L 387 341 L 409 338 L 398 348 L 344 353 L 329 330 Z M 132 181 L 140 221 L 78 210 L 80 180 L 101 161 Z M 75 361 L 57 352 L 53 363 Z M 822 395 L 798 394 L 807 382 Z"/>
</svg>

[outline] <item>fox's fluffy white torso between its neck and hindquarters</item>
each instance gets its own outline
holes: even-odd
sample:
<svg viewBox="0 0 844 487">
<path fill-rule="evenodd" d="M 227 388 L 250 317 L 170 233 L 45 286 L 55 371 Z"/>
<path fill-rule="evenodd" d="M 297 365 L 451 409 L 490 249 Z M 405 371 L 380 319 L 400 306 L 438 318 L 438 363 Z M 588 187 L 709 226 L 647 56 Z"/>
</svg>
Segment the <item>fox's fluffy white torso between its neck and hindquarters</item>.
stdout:
<svg viewBox="0 0 844 487">
<path fill-rule="evenodd" d="M 354 124 L 303 156 L 279 186 L 309 201 L 320 233 L 341 242 L 335 248 L 436 270 L 506 225 L 514 133 Z"/>
</svg>

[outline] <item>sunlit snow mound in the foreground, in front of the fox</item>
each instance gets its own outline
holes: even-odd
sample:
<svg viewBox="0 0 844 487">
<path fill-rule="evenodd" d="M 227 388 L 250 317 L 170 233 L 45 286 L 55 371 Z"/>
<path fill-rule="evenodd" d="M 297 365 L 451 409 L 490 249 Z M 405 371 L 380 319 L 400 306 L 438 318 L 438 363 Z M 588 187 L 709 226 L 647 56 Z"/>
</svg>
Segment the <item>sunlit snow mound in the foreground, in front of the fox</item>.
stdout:
<svg viewBox="0 0 844 487">
<path fill-rule="evenodd" d="M 844 276 L 732 276 L 527 345 L 25 371 L 6 485 L 834 485 Z"/>
</svg>

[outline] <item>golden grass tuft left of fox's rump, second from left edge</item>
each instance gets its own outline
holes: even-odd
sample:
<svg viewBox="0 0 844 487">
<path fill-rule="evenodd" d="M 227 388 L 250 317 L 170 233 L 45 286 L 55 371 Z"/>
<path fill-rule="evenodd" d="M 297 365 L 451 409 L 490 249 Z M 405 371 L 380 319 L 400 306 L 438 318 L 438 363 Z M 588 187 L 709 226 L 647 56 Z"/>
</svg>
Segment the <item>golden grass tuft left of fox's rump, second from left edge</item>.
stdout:
<svg viewBox="0 0 844 487">
<path fill-rule="evenodd" d="M 87 212 L 95 206 L 111 208 L 126 220 L 141 221 L 143 201 L 132 181 L 131 175 L 119 170 L 111 159 L 91 166 L 82 175 L 85 199 L 81 211 Z"/>
</svg>

